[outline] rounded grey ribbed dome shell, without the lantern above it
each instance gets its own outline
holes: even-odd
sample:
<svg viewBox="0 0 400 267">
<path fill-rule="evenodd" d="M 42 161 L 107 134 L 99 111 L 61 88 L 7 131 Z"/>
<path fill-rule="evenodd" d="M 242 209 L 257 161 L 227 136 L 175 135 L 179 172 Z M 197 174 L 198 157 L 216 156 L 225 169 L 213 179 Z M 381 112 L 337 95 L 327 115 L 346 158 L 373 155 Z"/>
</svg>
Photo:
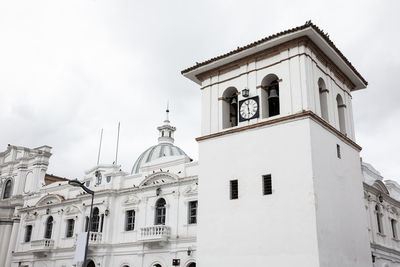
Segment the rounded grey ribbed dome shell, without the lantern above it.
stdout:
<svg viewBox="0 0 400 267">
<path fill-rule="evenodd" d="M 187 158 L 188 155 L 180 149 L 179 147 L 171 144 L 171 143 L 160 143 L 158 145 L 152 146 L 146 149 L 136 160 L 135 164 L 132 168 L 132 174 L 138 173 L 140 168 L 148 164 L 152 161 L 160 159 L 162 157 L 172 157 L 172 156 L 185 156 Z M 190 158 L 189 158 L 190 159 Z"/>
</svg>

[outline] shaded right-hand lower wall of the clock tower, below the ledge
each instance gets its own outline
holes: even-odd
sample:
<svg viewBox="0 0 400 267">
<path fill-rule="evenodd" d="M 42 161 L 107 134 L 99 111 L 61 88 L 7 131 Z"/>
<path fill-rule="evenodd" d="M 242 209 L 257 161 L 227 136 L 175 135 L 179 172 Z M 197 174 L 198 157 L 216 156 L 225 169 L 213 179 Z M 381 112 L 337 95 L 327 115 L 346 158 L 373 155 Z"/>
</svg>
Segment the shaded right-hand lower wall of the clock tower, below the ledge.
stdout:
<svg viewBox="0 0 400 267">
<path fill-rule="evenodd" d="M 359 152 L 313 120 L 310 128 L 320 266 L 371 266 Z"/>
</svg>

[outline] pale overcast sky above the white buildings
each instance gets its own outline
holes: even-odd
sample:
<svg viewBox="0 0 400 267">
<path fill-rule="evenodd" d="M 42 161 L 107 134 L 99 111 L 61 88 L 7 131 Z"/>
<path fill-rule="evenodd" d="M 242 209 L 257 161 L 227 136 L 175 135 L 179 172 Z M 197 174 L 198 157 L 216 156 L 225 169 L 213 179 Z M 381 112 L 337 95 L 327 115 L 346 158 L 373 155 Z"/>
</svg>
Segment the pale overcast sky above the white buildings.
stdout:
<svg viewBox="0 0 400 267">
<path fill-rule="evenodd" d="M 176 145 L 197 159 L 199 86 L 180 71 L 311 19 L 369 82 L 353 94 L 361 156 L 400 181 L 400 1 L 0 1 L 0 151 L 53 147 L 75 178 L 156 144 L 167 101 Z"/>
</svg>

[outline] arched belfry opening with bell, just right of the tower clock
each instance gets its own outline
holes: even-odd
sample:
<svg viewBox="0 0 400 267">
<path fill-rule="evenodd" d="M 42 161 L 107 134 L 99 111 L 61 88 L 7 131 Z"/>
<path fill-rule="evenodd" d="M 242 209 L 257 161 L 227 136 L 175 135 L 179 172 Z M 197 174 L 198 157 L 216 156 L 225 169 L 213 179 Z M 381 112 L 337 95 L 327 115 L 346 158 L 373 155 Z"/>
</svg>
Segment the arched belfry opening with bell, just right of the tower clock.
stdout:
<svg viewBox="0 0 400 267">
<path fill-rule="evenodd" d="M 263 118 L 280 114 L 279 106 L 279 79 L 275 74 L 268 74 L 261 81 L 262 93 L 261 105 Z"/>
</svg>

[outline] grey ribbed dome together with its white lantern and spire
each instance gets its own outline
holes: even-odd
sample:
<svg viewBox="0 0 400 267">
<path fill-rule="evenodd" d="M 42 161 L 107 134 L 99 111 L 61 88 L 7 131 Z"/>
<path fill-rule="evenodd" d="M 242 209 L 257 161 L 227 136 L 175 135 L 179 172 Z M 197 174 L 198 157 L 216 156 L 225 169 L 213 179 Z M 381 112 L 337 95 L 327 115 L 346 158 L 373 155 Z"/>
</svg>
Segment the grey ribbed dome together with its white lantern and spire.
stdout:
<svg viewBox="0 0 400 267">
<path fill-rule="evenodd" d="M 132 167 L 132 174 L 139 173 L 142 167 L 160 163 L 164 159 L 173 160 L 183 158 L 184 161 L 191 161 L 189 156 L 186 155 L 182 149 L 174 145 L 174 133 L 176 128 L 170 125 L 168 107 L 164 124 L 157 127 L 157 130 L 159 131 L 158 144 L 146 149 L 139 156 Z"/>
</svg>

